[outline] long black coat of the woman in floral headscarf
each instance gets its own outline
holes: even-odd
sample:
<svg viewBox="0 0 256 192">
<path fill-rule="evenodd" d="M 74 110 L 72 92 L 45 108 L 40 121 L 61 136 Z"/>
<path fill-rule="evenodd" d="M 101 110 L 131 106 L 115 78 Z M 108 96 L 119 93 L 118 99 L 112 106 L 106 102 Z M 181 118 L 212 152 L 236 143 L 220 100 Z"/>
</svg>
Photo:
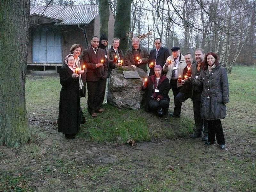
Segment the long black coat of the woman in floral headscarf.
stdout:
<svg viewBox="0 0 256 192">
<path fill-rule="evenodd" d="M 60 105 L 58 132 L 75 134 L 79 129 L 80 94 L 78 79 L 73 79 L 72 70 L 67 65 L 60 68 Z"/>
</svg>

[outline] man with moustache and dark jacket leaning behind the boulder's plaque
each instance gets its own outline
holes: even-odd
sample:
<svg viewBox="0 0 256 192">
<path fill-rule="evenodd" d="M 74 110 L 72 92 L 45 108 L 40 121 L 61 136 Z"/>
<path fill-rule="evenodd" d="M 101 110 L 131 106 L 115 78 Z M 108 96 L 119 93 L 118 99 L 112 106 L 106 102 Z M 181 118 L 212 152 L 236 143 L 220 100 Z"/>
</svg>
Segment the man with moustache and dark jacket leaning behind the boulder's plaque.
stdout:
<svg viewBox="0 0 256 192">
<path fill-rule="evenodd" d="M 132 65 L 134 67 L 139 67 L 147 73 L 147 63 L 149 61 L 148 50 L 144 47 L 140 47 L 140 40 L 138 37 L 132 38 L 132 47 L 130 47 L 125 55 L 125 65 Z"/>
</svg>

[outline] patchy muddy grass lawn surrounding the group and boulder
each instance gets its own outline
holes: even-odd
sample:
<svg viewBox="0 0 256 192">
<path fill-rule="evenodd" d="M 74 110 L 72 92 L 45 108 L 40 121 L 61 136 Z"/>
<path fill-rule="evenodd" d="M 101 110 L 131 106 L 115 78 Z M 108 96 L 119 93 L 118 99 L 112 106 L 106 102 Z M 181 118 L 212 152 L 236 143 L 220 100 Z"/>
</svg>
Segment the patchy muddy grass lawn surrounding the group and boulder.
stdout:
<svg viewBox="0 0 256 192">
<path fill-rule="evenodd" d="M 222 120 L 226 149 L 189 139 L 191 100 L 180 119 L 104 105 L 76 139 L 58 133 L 58 76 L 27 75 L 26 103 L 32 139 L 0 147 L 0 191 L 256 191 L 256 71 L 233 68 L 230 103 Z M 250 68 L 252 69 L 252 68 Z M 173 96 L 170 91 L 170 109 Z M 136 146 L 126 143 L 135 140 Z"/>
</svg>

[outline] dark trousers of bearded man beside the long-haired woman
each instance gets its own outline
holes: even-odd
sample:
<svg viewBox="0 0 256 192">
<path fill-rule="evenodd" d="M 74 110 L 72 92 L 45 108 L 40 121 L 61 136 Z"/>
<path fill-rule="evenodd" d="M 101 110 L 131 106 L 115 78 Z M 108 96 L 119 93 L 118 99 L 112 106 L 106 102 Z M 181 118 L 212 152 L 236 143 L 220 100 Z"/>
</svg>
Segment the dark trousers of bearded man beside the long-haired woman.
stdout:
<svg viewBox="0 0 256 192">
<path fill-rule="evenodd" d="M 201 118 L 201 114 L 200 114 L 201 102 L 200 102 L 200 100 L 193 100 L 192 102 L 193 102 L 193 112 L 194 112 L 194 119 L 195 119 L 195 126 L 196 126 L 195 132 L 198 134 L 201 134 L 201 132 L 203 131 L 204 136 L 207 136 L 208 135 L 208 126 L 207 126 L 208 121 L 203 120 Z M 203 126 L 204 126 L 204 130 L 203 130 Z"/>
</svg>

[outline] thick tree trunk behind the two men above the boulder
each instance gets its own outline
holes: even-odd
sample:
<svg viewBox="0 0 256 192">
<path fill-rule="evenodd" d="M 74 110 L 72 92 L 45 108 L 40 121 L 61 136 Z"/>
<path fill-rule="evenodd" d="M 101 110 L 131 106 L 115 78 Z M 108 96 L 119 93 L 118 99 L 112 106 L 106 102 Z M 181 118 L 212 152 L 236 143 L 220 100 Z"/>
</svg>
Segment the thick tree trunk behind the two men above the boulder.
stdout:
<svg viewBox="0 0 256 192">
<path fill-rule="evenodd" d="M 117 0 L 116 20 L 114 24 L 114 37 L 120 38 L 120 48 L 126 52 L 128 49 L 128 33 L 131 22 L 132 0 Z"/>
</svg>

